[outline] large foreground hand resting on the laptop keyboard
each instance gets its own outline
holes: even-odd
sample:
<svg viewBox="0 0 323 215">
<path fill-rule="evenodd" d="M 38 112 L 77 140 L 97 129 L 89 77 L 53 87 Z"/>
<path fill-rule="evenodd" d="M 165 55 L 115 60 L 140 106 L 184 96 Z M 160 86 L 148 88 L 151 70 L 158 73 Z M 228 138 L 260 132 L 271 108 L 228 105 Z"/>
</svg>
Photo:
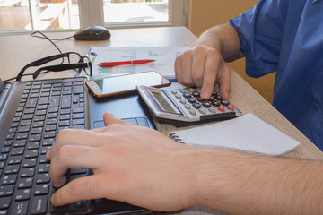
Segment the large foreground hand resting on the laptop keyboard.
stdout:
<svg viewBox="0 0 323 215">
<path fill-rule="evenodd" d="M 63 130 L 47 153 L 55 187 L 65 184 L 67 168 L 91 168 L 52 195 L 59 206 L 107 198 L 153 211 L 176 211 L 191 205 L 194 148 L 153 129 L 131 125 L 106 113 L 106 127 Z"/>
</svg>

